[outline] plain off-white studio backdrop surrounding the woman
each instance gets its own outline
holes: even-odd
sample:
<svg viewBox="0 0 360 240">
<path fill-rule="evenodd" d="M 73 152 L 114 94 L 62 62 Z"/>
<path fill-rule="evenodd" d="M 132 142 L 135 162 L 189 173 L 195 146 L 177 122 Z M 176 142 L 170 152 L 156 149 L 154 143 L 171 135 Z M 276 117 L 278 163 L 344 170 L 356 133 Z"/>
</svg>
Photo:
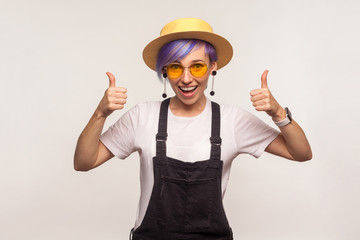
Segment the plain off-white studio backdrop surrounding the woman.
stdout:
<svg viewBox="0 0 360 240">
<path fill-rule="evenodd" d="M 142 50 L 182 17 L 208 21 L 233 45 L 212 99 L 273 125 L 249 99 L 269 69 L 270 90 L 313 149 L 305 163 L 234 161 L 224 202 L 235 239 L 359 239 L 359 10 L 356 0 L 1 0 L 0 239 L 127 239 L 137 154 L 83 173 L 74 149 L 106 71 L 128 88 L 124 111 L 162 99 Z"/>
</svg>

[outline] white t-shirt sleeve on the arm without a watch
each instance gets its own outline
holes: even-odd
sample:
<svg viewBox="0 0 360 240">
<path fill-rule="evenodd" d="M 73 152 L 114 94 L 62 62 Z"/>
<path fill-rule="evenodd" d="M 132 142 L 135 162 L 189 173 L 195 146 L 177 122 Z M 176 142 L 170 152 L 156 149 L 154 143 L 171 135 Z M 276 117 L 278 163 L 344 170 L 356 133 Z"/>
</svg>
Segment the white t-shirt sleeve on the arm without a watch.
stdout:
<svg viewBox="0 0 360 240">
<path fill-rule="evenodd" d="M 135 151 L 138 113 L 138 106 L 133 107 L 100 136 L 100 141 L 120 159 L 125 159 Z"/>
</svg>

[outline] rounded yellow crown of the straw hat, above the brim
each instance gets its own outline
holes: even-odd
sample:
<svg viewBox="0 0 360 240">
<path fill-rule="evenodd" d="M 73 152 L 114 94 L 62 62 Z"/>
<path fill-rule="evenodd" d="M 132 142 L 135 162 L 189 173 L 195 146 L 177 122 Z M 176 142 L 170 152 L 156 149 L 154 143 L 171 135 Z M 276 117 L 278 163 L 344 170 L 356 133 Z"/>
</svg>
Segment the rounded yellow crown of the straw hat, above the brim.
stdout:
<svg viewBox="0 0 360 240">
<path fill-rule="evenodd" d="M 197 18 L 181 18 L 166 24 L 160 32 L 160 36 L 178 32 L 210 32 L 213 29 L 207 22 Z"/>
</svg>

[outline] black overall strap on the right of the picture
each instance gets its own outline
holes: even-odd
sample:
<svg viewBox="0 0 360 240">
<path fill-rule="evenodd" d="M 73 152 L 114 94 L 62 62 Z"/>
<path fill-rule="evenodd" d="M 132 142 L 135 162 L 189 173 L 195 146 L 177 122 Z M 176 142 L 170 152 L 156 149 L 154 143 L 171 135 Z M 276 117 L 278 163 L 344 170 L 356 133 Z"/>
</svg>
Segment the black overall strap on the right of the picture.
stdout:
<svg viewBox="0 0 360 240">
<path fill-rule="evenodd" d="M 211 102 L 211 154 L 210 159 L 220 160 L 221 158 L 221 138 L 220 138 L 220 105 Z"/>
</svg>

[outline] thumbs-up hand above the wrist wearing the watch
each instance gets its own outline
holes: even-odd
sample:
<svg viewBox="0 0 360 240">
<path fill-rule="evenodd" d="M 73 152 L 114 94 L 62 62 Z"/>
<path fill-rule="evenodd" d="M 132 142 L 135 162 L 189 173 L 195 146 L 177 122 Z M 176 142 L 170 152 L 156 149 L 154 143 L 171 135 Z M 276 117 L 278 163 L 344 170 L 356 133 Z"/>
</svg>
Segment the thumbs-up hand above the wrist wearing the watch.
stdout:
<svg viewBox="0 0 360 240">
<path fill-rule="evenodd" d="M 257 111 L 265 111 L 272 117 L 273 121 L 279 122 L 286 117 L 286 113 L 269 90 L 267 83 L 268 72 L 268 70 L 265 70 L 261 75 L 261 88 L 250 92 L 251 101 Z"/>
</svg>

